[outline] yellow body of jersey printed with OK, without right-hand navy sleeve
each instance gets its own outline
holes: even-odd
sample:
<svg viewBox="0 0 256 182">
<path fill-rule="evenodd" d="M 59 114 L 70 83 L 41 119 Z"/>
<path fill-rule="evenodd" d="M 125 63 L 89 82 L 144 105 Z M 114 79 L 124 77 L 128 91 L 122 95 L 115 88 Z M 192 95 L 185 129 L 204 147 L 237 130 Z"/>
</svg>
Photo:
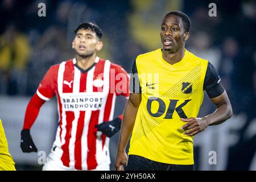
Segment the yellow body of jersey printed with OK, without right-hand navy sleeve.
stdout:
<svg viewBox="0 0 256 182">
<path fill-rule="evenodd" d="M 167 63 L 162 49 L 135 60 L 142 94 L 129 155 L 168 164 L 193 164 L 193 137 L 183 134 L 180 118 L 197 117 L 204 97 L 208 60 L 185 49 L 182 60 Z M 217 80 L 216 80 L 217 79 Z M 218 84 L 216 78 L 213 82 Z"/>
</svg>

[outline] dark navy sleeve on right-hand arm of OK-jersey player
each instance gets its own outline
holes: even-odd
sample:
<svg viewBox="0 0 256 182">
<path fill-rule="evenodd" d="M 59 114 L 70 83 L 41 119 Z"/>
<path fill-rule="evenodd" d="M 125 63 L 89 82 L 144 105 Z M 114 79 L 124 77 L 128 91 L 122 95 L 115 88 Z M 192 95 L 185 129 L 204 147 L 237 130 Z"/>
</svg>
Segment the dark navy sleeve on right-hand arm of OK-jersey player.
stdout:
<svg viewBox="0 0 256 182">
<path fill-rule="evenodd" d="M 204 90 L 210 98 L 218 97 L 225 91 L 221 85 L 220 76 L 210 62 L 208 62 L 207 72 L 205 73 Z"/>
</svg>

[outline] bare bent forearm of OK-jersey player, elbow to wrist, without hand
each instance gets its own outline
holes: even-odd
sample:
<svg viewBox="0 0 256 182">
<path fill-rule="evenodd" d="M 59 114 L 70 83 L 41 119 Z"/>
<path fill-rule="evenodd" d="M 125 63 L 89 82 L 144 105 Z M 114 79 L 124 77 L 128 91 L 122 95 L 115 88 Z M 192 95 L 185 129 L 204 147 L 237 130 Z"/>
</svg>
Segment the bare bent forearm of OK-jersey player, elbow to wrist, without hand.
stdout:
<svg viewBox="0 0 256 182">
<path fill-rule="evenodd" d="M 203 119 L 206 119 L 208 125 L 220 125 L 230 117 L 232 117 L 232 106 L 229 103 L 218 106 L 214 113 L 207 115 Z"/>
</svg>

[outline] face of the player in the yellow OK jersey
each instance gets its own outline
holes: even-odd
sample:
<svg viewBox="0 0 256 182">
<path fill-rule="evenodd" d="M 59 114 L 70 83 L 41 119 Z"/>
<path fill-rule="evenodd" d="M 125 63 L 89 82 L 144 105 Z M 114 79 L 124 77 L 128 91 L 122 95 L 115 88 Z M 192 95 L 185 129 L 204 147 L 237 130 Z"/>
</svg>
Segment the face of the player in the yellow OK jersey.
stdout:
<svg viewBox="0 0 256 182">
<path fill-rule="evenodd" d="M 163 49 L 176 52 L 184 46 L 184 40 L 188 38 L 188 32 L 184 31 L 181 18 L 176 15 L 168 15 L 161 25 L 160 32 Z"/>
</svg>

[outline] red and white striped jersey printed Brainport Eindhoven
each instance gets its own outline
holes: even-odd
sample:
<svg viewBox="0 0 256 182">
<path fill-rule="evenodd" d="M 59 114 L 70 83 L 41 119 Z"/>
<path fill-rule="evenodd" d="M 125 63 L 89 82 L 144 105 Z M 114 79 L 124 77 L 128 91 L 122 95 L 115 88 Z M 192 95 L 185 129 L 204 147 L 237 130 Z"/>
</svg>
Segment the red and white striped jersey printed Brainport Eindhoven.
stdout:
<svg viewBox="0 0 256 182">
<path fill-rule="evenodd" d="M 53 146 L 64 166 L 91 170 L 110 164 L 109 138 L 97 137 L 98 125 L 113 119 L 115 97 L 129 96 L 129 75 L 119 65 L 96 57 L 86 71 L 76 59 L 53 65 L 36 91 L 48 101 L 57 96 L 59 126 Z"/>
</svg>

